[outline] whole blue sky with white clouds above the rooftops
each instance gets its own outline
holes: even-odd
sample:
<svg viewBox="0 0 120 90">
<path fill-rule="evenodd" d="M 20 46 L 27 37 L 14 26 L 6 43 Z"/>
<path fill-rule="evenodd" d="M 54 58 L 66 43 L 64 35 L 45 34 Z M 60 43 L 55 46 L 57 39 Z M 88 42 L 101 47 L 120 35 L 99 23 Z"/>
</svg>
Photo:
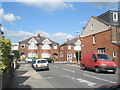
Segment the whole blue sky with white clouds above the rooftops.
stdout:
<svg viewBox="0 0 120 90">
<path fill-rule="evenodd" d="M 36 36 L 58 43 L 82 33 L 91 16 L 118 10 L 116 2 L 1 2 L 0 22 L 6 38 L 19 42 Z M 79 33 L 76 33 L 79 31 Z"/>
</svg>

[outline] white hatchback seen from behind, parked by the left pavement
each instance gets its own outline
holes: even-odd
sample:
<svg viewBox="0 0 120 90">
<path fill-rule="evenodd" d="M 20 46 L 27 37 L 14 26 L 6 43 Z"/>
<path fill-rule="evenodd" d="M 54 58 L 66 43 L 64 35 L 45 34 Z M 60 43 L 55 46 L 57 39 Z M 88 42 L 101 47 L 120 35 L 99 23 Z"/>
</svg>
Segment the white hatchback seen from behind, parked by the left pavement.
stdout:
<svg viewBox="0 0 120 90">
<path fill-rule="evenodd" d="M 37 70 L 41 70 L 41 69 L 47 69 L 47 70 L 49 70 L 49 63 L 48 63 L 48 61 L 46 59 L 37 59 L 33 63 L 33 68 L 36 71 Z"/>
</svg>

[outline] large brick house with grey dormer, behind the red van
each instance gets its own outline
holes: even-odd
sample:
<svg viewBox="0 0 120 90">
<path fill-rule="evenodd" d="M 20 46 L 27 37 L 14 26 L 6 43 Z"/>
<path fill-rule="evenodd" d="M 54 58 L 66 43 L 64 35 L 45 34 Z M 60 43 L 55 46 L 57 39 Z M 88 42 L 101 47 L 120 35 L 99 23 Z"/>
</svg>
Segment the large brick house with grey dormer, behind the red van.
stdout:
<svg viewBox="0 0 120 90">
<path fill-rule="evenodd" d="M 108 53 L 120 67 L 120 11 L 92 16 L 81 37 L 82 53 Z"/>
</svg>

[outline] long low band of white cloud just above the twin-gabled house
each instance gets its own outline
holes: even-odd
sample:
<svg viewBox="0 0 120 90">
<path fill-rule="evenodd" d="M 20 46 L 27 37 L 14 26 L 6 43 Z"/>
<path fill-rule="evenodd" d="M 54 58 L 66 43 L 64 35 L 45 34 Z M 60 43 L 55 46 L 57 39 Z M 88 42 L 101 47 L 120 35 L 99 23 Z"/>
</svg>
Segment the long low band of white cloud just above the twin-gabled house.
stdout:
<svg viewBox="0 0 120 90">
<path fill-rule="evenodd" d="M 29 38 L 31 36 L 37 36 L 38 33 L 40 33 L 41 36 L 47 37 L 51 40 L 57 41 L 57 42 L 63 42 L 66 41 L 68 38 L 71 39 L 73 38 L 72 35 L 67 34 L 67 33 L 62 33 L 62 32 L 58 32 L 58 33 L 47 33 L 43 30 L 38 30 L 35 31 L 34 33 L 31 32 L 27 32 L 27 31 L 13 31 L 13 30 L 6 30 L 4 28 L 4 33 L 5 36 L 7 36 L 8 38 L 12 38 L 12 39 L 21 39 L 24 40 L 26 38 Z"/>
</svg>

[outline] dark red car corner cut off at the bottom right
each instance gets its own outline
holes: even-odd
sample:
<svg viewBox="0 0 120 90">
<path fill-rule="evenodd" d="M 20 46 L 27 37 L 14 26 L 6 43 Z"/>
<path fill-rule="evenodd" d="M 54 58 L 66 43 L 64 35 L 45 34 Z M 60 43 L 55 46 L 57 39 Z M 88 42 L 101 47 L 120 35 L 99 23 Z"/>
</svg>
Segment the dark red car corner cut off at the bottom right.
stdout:
<svg viewBox="0 0 120 90">
<path fill-rule="evenodd" d="M 100 86 L 95 90 L 120 90 L 120 83 Z"/>
</svg>

